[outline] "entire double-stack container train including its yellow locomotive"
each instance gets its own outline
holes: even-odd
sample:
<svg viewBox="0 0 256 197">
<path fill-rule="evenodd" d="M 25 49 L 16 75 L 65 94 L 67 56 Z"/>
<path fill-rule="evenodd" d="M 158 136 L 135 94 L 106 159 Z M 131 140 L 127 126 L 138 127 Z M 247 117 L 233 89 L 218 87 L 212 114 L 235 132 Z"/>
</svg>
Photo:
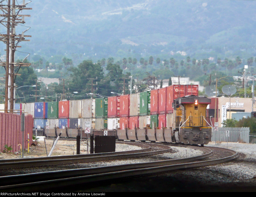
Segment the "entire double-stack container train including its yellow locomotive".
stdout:
<svg viewBox="0 0 256 197">
<path fill-rule="evenodd" d="M 56 129 L 65 137 L 76 136 L 80 129 L 86 137 L 83 131 L 90 127 L 91 134 L 103 135 L 107 130 L 120 140 L 203 145 L 211 140 L 212 125 L 206 117 L 210 101 L 198 97 L 198 85 L 170 85 L 131 95 L 26 103 L 15 108 L 32 114 L 34 127 L 45 128 L 48 137 L 56 136 Z"/>
</svg>

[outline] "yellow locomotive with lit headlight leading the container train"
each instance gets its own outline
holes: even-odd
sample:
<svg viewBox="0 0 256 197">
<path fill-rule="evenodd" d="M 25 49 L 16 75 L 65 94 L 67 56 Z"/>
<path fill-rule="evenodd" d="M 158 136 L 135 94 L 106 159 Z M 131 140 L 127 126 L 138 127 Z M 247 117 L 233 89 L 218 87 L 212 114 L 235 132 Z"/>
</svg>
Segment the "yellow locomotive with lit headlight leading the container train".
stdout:
<svg viewBox="0 0 256 197">
<path fill-rule="evenodd" d="M 194 95 L 174 100 L 173 132 L 176 142 L 203 146 L 211 141 L 211 118 L 206 117 L 206 107 L 210 103 L 210 98 Z"/>
</svg>

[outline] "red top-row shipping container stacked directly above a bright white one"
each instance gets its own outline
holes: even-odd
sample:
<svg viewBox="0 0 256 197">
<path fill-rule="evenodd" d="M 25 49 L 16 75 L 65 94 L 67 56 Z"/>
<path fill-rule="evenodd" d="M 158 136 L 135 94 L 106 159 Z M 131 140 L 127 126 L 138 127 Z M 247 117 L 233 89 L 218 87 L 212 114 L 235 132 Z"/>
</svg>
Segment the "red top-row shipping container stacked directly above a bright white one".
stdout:
<svg viewBox="0 0 256 197">
<path fill-rule="evenodd" d="M 120 96 L 108 97 L 108 118 L 120 117 Z"/>
</svg>

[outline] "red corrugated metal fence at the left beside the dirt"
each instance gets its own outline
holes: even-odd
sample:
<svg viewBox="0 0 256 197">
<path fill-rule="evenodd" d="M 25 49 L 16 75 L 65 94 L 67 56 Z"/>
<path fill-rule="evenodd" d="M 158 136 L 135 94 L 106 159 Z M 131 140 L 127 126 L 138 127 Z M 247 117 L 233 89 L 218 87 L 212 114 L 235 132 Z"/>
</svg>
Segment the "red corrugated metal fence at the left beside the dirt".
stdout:
<svg viewBox="0 0 256 197">
<path fill-rule="evenodd" d="M 25 116 L 25 131 L 24 131 L 24 148 L 32 144 L 33 138 L 33 116 Z M 12 152 L 20 150 L 18 144 L 22 144 L 21 118 L 20 115 L 11 113 L 0 113 L 0 151 L 4 151 L 4 146 L 12 147 Z"/>
</svg>

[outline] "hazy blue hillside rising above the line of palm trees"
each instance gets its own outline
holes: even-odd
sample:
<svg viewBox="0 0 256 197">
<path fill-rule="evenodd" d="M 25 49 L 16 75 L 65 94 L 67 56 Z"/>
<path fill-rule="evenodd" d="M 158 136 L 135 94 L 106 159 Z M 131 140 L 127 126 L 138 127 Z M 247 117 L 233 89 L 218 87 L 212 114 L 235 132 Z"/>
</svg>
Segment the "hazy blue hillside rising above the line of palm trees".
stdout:
<svg viewBox="0 0 256 197">
<path fill-rule="evenodd" d="M 27 6 L 32 37 L 22 51 L 44 57 L 256 55 L 255 1 L 41 0 Z"/>
</svg>

